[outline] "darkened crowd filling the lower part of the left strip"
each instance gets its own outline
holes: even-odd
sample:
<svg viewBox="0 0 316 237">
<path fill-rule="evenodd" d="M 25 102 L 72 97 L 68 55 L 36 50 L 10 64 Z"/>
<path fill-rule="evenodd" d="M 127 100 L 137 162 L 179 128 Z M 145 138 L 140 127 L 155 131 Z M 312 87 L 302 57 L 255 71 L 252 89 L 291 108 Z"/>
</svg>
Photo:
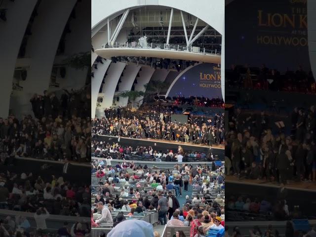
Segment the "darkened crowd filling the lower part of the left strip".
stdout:
<svg viewBox="0 0 316 237">
<path fill-rule="evenodd" d="M 35 94 L 30 100 L 34 116 L 0 118 L 0 165 L 15 167 L 14 158 L 67 164 L 69 161 L 90 161 L 89 90 L 84 87 L 63 93 L 44 91 L 43 95 Z M 66 175 L 67 165 L 64 165 L 65 176 L 58 177 L 48 177 L 45 170 L 49 169 L 49 164 L 45 165 L 41 166 L 40 172 L 1 171 L 0 209 L 32 213 L 32 216 L 12 213 L 1 220 L 1 236 L 78 236 L 79 232 L 82 236 L 89 235 L 90 225 L 82 221 L 72 226 L 65 222 L 59 230 L 48 229 L 46 219 L 51 215 L 89 217 L 91 191 L 90 182 L 83 185 L 80 179 L 78 182 L 64 180 L 69 177 Z M 36 226 L 31 219 L 35 220 Z"/>
</svg>

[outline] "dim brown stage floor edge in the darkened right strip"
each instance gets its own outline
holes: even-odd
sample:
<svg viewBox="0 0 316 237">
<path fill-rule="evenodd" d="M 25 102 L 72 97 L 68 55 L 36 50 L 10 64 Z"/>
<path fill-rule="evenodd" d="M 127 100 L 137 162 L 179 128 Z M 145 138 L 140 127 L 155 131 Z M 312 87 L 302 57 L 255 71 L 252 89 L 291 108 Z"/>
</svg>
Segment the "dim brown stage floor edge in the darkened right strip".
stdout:
<svg viewBox="0 0 316 237">
<path fill-rule="evenodd" d="M 276 182 L 269 182 L 265 180 L 252 180 L 252 179 L 238 179 L 236 176 L 230 175 L 225 177 L 225 181 L 229 183 L 236 184 L 247 184 L 255 186 L 264 186 L 264 187 L 274 187 L 278 188 L 280 185 Z M 313 191 L 316 192 L 316 182 L 290 182 L 286 185 L 287 189 L 300 190 L 300 191 Z"/>
</svg>

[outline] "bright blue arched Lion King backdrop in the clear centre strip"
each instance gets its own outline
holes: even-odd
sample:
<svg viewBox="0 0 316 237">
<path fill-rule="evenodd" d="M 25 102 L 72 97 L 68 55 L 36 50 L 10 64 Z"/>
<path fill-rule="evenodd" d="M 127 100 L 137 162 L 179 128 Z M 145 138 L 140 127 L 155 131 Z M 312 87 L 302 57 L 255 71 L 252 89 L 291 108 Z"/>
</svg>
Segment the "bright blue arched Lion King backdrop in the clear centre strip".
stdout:
<svg viewBox="0 0 316 237">
<path fill-rule="evenodd" d="M 221 68 L 217 64 L 201 63 L 179 75 L 171 84 L 167 96 L 205 96 L 223 98 L 221 90 Z"/>
</svg>

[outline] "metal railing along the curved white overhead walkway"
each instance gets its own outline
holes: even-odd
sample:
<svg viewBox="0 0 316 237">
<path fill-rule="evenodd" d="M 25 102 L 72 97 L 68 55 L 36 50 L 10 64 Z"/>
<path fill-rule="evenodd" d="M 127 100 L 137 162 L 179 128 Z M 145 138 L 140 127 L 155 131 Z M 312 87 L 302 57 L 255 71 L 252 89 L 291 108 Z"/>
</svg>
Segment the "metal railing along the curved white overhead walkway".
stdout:
<svg viewBox="0 0 316 237">
<path fill-rule="evenodd" d="M 204 55 L 221 55 L 221 51 L 217 49 L 208 49 L 201 47 L 187 47 L 180 44 L 166 44 L 166 43 L 147 43 L 146 47 L 142 47 L 139 42 L 125 42 L 125 43 L 114 43 L 113 47 L 108 44 L 102 44 L 101 48 L 142 48 L 142 49 L 164 49 L 170 51 L 181 51 L 181 52 L 192 52 Z"/>
</svg>

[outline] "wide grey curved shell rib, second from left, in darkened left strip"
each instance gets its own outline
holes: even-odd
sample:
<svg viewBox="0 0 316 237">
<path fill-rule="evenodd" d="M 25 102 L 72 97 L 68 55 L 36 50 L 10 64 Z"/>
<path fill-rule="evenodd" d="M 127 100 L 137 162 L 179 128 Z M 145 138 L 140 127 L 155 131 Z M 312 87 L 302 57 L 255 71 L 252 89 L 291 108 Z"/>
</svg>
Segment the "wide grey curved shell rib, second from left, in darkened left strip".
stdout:
<svg viewBox="0 0 316 237">
<path fill-rule="evenodd" d="M 14 91 L 11 95 L 10 108 L 19 118 L 32 114 L 29 102 L 32 94 L 42 94 L 48 89 L 58 43 L 75 3 L 76 0 L 55 0 L 41 1 L 39 5 L 39 15 L 35 18 L 33 34 L 26 47 L 25 57 L 30 60 L 28 76 L 20 83 L 23 91 Z M 15 18 L 20 22 L 18 17 Z"/>
</svg>

